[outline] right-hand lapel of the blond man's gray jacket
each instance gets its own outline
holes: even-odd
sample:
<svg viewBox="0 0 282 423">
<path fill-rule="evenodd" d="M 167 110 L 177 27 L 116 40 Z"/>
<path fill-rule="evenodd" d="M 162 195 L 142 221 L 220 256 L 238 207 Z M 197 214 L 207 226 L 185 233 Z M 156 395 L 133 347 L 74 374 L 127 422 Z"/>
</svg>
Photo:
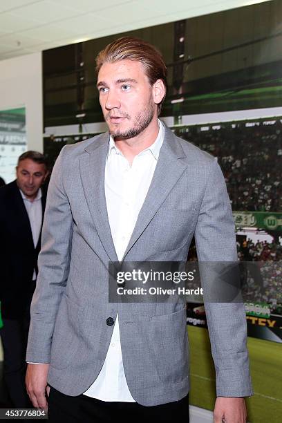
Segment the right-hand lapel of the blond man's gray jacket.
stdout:
<svg viewBox="0 0 282 423">
<path fill-rule="evenodd" d="M 164 142 L 160 149 L 158 163 L 123 260 L 187 168 L 187 164 L 182 164 L 179 160 L 185 157 L 180 142 L 170 129 L 165 127 Z"/>
</svg>

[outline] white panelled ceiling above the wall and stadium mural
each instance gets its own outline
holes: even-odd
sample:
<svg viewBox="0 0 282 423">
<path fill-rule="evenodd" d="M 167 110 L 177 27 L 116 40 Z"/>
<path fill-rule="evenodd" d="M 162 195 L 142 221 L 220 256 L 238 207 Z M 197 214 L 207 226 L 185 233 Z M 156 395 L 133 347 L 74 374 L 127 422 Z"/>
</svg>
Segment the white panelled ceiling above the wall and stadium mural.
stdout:
<svg viewBox="0 0 282 423">
<path fill-rule="evenodd" d="M 0 59 L 263 1 L 0 0 Z"/>
</svg>

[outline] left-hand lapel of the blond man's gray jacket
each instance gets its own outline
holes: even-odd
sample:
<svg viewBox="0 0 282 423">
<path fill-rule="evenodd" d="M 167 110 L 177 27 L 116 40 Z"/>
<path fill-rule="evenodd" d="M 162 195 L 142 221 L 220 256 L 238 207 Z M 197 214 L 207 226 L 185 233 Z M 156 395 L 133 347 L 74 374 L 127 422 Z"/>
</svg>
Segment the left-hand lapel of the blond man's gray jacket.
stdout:
<svg viewBox="0 0 282 423">
<path fill-rule="evenodd" d="M 118 261 L 113 245 L 111 227 L 106 209 L 104 189 L 106 156 L 109 149 L 109 133 L 103 133 L 89 144 L 79 160 L 84 196 L 106 254 L 111 261 Z"/>
</svg>

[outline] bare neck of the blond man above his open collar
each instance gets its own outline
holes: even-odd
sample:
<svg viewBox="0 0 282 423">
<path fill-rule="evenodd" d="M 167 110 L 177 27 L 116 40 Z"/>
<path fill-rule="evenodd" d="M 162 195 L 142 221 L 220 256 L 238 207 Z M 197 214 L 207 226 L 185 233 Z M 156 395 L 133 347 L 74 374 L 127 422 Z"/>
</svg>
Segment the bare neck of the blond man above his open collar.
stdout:
<svg viewBox="0 0 282 423">
<path fill-rule="evenodd" d="M 152 120 L 147 128 L 134 138 L 129 138 L 128 140 L 115 139 L 115 145 L 131 165 L 135 156 L 138 156 L 141 151 L 151 147 L 151 145 L 156 141 L 158 131 L 158 120 Z"/>
</svg>

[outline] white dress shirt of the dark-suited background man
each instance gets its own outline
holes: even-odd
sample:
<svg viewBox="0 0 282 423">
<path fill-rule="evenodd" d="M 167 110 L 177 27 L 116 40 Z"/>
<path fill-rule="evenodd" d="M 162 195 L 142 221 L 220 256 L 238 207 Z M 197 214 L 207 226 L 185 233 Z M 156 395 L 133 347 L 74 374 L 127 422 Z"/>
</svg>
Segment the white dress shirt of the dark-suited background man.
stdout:
<svg viewBox="0 0 282 423">
<path fill-rule="evenodd" d="M 19 191 L 23 198 L 23 204 L 26 207 L 26 212 L 28 214 L 28 218 L 30 221 L 33 245 L 36 248 L 38 240 L 39 240 L 41 224 L 42 224 L 42 203 L 41 203 L 42 191 L 41 191 L 41 188 L 39 188 L 39 190 L 37 191 L 37 196 L 35 197 L 33 201 L 26 198 L 26 196 L 23 194 L 23 191 L 21 191 L 21 189 Z M 33 275 L 32 275 L 32 281 L 35 281 L 35 279 L 36 279 L 36 272 L 34 269 Z"/>
</svg>

